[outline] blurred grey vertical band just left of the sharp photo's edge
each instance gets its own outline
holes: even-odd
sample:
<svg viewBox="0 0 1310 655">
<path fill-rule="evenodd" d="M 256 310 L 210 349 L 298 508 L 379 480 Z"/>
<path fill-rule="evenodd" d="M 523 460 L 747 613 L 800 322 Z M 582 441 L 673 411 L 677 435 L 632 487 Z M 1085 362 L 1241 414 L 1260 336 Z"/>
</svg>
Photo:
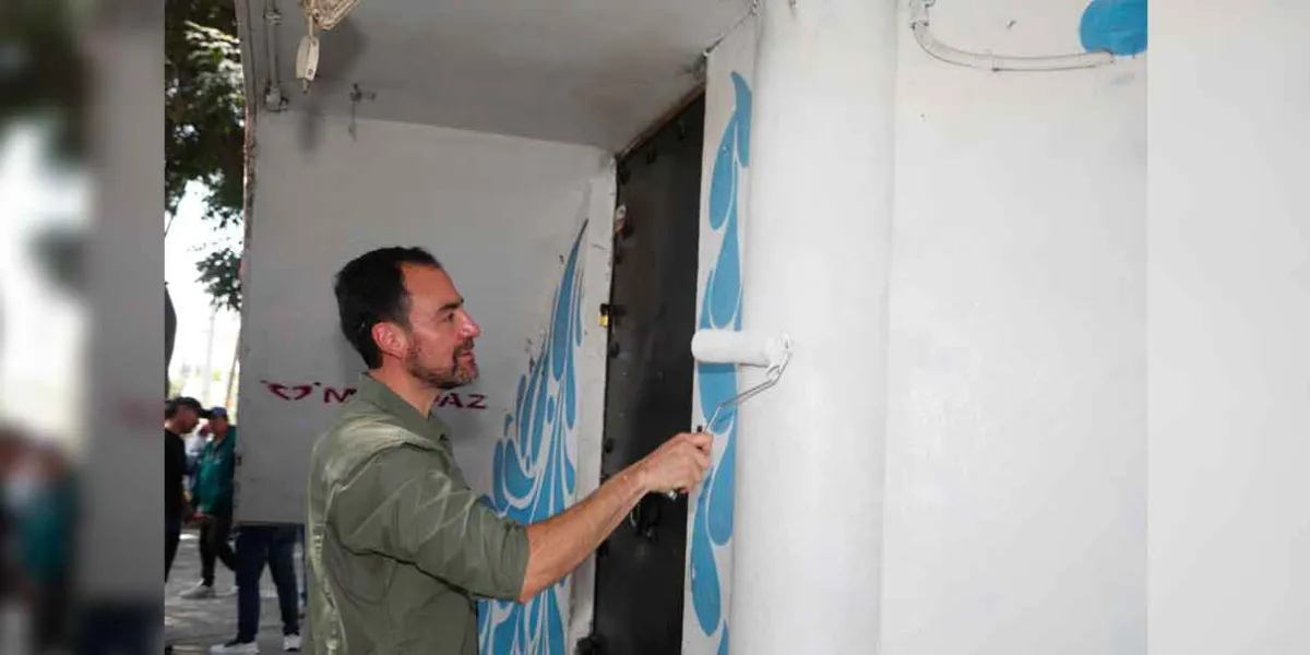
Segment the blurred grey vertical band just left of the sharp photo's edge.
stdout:
<svg viewBox="0 0 1310 655">
<path fill-rule="evenodd" d="M 81 481 L 76 652 L 161 651 L 164 8 L 101 0 L 84 37 L 96 198 L 85 411 L 94 421 Z"/>
</svg>

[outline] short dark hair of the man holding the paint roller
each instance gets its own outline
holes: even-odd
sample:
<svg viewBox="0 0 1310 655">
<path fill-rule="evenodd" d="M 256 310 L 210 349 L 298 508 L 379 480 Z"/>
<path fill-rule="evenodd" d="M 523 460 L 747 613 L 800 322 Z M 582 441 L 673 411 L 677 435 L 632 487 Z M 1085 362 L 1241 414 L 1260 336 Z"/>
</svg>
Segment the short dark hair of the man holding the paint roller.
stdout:
<svg viewBox="0 0 1310 655">
<path fill-rule="evenodd" d="M 379 248 L 342 266 L 337 272 L 337 312 L 346 341 L 364 358 L 368 368 L 383 365 L 383 352 L 373 342 L 373 326 L 394 322 L 409 326 L 409 292 L 401 266 L 414 263 L 441 267 L 422 248 Z"/>
</svg>

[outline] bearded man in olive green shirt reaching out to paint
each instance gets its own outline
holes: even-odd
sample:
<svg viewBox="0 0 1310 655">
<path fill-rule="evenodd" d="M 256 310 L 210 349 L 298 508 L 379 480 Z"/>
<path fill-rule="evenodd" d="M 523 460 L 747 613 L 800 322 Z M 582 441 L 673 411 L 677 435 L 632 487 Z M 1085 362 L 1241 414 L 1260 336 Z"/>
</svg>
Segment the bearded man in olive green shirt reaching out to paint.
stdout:
<svg viewBox="0 0 1310 655">
<path fill-rule="evenodd" d="M 476 655 L 474 597 L 532 599 L 646 494 L 688 490 L 710 464 L 710 435 L 679 434 L 550 519 L 502 517 L 430 411 L 478 376 L 481 328 L 449 275 L 426 250 L 384 248 L 347 263 L 335 295 L 368 372 L 310 455 L 310 652 Z"/>
</svg>

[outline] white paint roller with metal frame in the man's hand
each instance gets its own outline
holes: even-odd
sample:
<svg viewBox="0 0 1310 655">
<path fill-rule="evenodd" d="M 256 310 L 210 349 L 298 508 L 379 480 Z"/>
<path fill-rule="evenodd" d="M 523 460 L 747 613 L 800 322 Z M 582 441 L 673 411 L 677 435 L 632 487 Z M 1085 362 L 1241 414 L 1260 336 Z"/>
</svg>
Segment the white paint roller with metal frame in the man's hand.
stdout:
<svg viewBox="0 0 1310 655">
<path fill-rule="evenodd" d="M 703 364 L 734 364 L 764 368 L 764 381 L 718 403 L 705 426 L 697 426 L 697 432 L 714 430 L 719 414 L 731 406 L 745 402 L 752 396 L 778 384 L 787 362 L 791 360 L 791 338 L 786 334 L 762 334 L 738 330 L 697 330 L 692 337 L 692 356 Z M 671 500 L 677 491 L 665 491 Z"/>
</svg>

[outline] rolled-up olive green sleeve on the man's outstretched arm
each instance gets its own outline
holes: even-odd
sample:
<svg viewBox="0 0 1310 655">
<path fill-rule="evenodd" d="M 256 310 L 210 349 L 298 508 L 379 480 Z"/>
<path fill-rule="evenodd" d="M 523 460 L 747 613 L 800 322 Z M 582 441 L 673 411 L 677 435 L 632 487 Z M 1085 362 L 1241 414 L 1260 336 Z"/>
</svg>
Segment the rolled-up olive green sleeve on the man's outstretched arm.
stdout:
<svg viewBox="0 0 1310 655">
<path fill-rule="evenodd" d="M 342 546 L 410 562 L 469 593 L 516 600 L 528 533 L 478 500 L 426 451 L 373 456 L 331 498 L 328 524 Z"/>
</svg>

